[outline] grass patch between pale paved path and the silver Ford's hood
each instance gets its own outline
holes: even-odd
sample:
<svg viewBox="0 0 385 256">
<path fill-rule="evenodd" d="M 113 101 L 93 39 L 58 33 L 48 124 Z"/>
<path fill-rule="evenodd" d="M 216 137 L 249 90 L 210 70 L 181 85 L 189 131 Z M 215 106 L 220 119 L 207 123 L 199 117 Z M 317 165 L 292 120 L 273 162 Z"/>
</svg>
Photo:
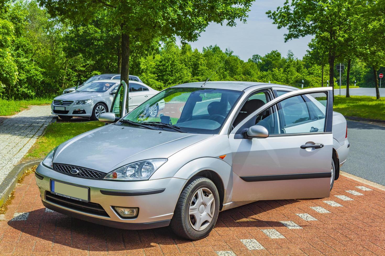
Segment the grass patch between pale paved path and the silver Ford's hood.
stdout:
<svg viewBox="0 0 385 256">
<path fill-rule="evenodd" d="M 27 159 L 44 158 L 62 142 L 103 125 L 104 123 L 99 121 L 49 124 L 45 133 L 37 139 L 25 157 Z"/>
</svg>

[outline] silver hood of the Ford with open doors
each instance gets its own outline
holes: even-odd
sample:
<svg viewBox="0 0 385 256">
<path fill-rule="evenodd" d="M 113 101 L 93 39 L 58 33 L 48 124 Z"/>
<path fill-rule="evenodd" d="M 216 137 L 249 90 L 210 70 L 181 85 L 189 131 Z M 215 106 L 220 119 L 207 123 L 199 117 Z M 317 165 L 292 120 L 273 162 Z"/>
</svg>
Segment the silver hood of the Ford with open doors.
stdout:
<svg viewBox="0 0 385 256">
<path fill-rule="evenodd" d="M 108 173 L 132 162 L 168 158 L 211 136 L 213 135 L 108 125 L 61 144 L 55 152 L 53 162 Z"/>
</svg>

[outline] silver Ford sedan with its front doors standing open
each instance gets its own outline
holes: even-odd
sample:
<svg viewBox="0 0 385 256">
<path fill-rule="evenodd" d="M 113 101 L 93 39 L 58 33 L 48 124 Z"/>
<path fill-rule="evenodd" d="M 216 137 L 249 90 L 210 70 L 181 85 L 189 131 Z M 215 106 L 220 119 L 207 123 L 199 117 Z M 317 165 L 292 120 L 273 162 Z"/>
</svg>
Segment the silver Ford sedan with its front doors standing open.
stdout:
<svg viewBox="0 0 385 256">
<path fill-rule="evenodd" d="M 201 239 L 220 211 L 329 197 L 349 152 L 330 87 L 181 84 L 125 114 L 126 87 L 99 117 L 112 124 L 67 140 L 37 167 L 45 207 L 116 228 L 171 225 Z"/>
</svg>

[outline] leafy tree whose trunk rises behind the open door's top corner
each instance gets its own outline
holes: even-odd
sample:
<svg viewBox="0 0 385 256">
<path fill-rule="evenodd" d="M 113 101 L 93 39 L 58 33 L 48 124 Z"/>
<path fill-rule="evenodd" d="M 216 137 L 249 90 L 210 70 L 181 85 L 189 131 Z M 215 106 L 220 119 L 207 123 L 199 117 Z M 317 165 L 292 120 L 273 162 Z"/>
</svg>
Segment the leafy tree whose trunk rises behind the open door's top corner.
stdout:
<svg viewBox="0 0 385 256">
<path fill-rule="evenodd" d="M 285 42 L 306 35 L 327 48 L 329 80 L 334 90 L 334 61 L 341 54 L 341 47 L 352 29 L 355 8 L 363 5 L 361 0 L 288 0 L 276 11 L 266 12 L 278 28 L 287 28 Z M 334 91 L 333 91 L 334 92 Z"/>
</svg>

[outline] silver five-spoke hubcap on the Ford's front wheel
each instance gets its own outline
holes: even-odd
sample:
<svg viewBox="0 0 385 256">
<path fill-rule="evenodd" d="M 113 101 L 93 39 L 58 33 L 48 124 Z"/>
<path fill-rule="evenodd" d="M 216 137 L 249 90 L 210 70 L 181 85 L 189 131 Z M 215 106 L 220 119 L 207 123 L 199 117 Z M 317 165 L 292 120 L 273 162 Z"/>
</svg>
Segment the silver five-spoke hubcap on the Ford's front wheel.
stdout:
<svg viewBox="0 0 385 256">
<path fill-rule="evenodd" d="M 192 197 L 189 206 L 189 221 L 194 230 L 202 231 L 214 217 L 215 200 L 208 188 L 201 188 Z"/>
</svg>

